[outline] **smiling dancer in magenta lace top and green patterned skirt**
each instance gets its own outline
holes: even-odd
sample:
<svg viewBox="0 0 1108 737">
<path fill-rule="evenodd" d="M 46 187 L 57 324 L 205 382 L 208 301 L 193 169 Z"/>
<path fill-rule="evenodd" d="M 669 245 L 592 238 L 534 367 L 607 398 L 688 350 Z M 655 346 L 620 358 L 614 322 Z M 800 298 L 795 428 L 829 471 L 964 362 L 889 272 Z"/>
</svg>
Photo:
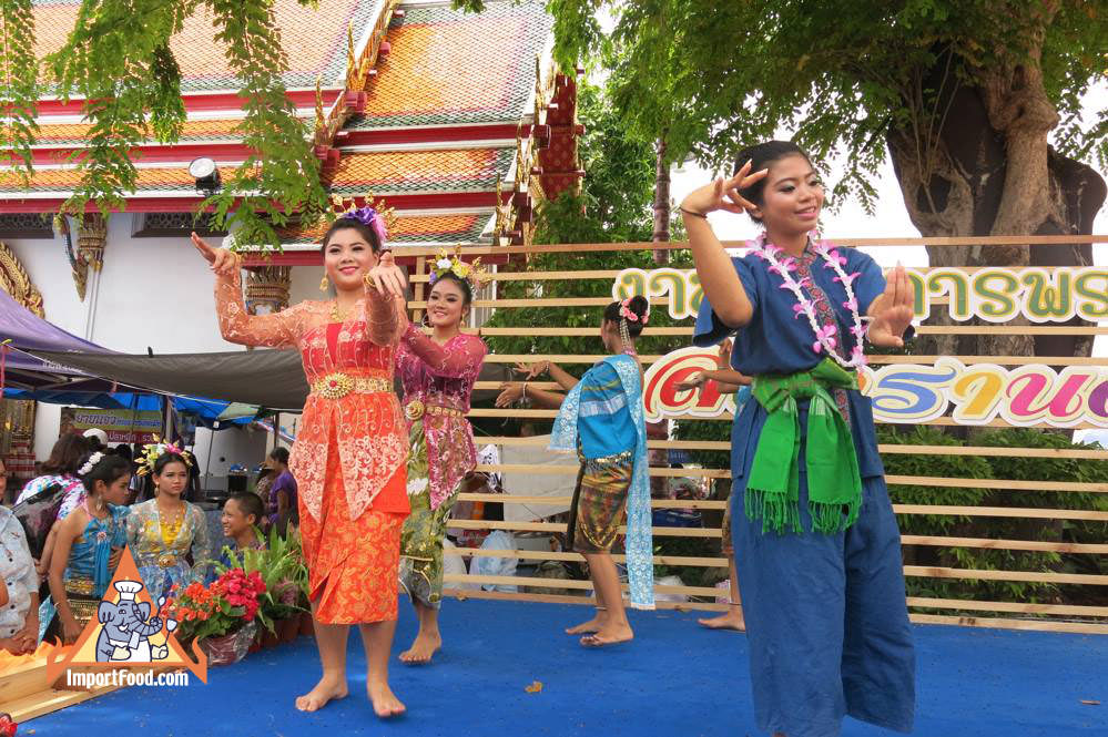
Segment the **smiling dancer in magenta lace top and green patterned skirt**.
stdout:
<svg viewBox="0 0 1108 737">
<path fill-rule="evenodd" d="M 428 663 L 441 646 L 443 540 L 461 482 L 477 463 L 474 430 L 466 420 L 474 382 L 488 349 L 461 332 L 480 286 L 472 265 L 439 255 L 430 275 L 427 321 L 431 335 L 408 325 L 396 351 L 408 420 L 408 502 L 411 515 L 400 535 L 400 583 L 408 591 L 419 633 L 400 654 L 405 663 Z"/>
</svg>

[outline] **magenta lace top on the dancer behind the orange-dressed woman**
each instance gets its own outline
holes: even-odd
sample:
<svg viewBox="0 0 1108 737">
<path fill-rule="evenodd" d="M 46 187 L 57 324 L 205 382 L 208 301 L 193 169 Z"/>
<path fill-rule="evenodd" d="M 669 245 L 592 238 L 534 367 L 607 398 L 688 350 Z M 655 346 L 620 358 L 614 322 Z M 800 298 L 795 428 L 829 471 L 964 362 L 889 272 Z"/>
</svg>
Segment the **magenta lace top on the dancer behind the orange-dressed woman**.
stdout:
<svg viewBox="0 0 1108 737">
<path fill-rule="evenodd" d="M 404 402 L 469 411 L 469 396 L 488 348 L 474 335 L 459 334 L 444 345 L 408 324 L 396 350 Z M 420 420 L 417 420 L 420 421 Z M 474 429 L 465 417 L 428 412 L 421 418 L 427 438 L 427 475 L 431 509 L 437 509 L 477 462 Z"/>
</svg>

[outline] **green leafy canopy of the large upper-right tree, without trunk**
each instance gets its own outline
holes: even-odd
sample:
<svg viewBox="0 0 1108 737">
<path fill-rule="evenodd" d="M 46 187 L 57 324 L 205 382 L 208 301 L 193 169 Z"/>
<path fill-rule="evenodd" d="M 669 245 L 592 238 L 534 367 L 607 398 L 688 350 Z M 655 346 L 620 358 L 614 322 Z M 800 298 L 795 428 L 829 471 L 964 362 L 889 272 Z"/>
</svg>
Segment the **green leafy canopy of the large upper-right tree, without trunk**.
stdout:
<svg viewBox="0 0 1108 737">
<path fill-rule="evenodd" d="M 1039 47 L 1063 153 L 1108 161 L 1108 110 L 1094 125 L 1079 119 L 1084 94 L 1108 72 L 1102 2 L 551 0 L 548 9 L 558 61 L 608 70 L 627 125 L 647 141 L 664 135 L 674 161 L 693 153 L 729 168 L 744 145 L 786 129 L 819 160 L 844 154 L 836 194 L 872 203 L 891 126 L 931 145 L 944 92 L 1010 80 Z M 600 12 L 614 19 L 607 35 Z"/>
</svg>

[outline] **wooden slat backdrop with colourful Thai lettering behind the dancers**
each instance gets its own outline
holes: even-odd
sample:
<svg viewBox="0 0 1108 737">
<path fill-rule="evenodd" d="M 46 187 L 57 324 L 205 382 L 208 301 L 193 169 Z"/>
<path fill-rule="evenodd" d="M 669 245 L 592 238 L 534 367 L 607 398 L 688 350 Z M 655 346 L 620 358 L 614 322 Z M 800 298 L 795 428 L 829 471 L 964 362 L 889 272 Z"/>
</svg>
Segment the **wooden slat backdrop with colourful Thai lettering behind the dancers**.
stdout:
<svg viewBox="0 0 1108 737">
<path fill-rule="evenodd" d="M 1035 236 L 1020 238 L 896 238 L 885 242 L 874 239 L 834 239 L 845 246 L 861 247 L 871 254 L 885 246 L 929 245 L 966 246 L 997 244 L 1039 244 L 1053 247 L 1073 247 L 1074 243 L 1104 243 L 1108 236 Z M 726 244 L 742 253 L 742 243 Z M 668 310 L 675 318 L 675 325 L 648 327 L 644 335 L 685 336 L 687 347 L 663 356 L 641 356 L 646 367 L 646 405 L 651 419 L 673 419 L 688 422 L 729 421 L 733 402 L 728 396 L 720 396 L 712 388 L 705 391 L 681 391 L 677 383 L 685 376 L 715 367 L 713 349 L 691 346 L 692 323 L 700 306 L 701 293 L 694 272 L 675 268 L 652 270 L 620 268 L 621 253 L 644 248 L 680 250 L 683 243 L 671 244 L 567 244 L 555 246 L 511 246 L 470 248 L 466 256 L 491 254 L 510 255 L 512 268 L 501 268 L 496 275 L 497 284 L 508 282 L 531 283 L 528 298 L 498 299 L 497 290 L 486 290 L 475 300 L 477 308 L 495 310 L 542 310 L 545 308 L 589 308 L 599 318 L 599 308 L 612 298 L 624 298 L 642 294 L 650 298 L 655 310 Z M 612 268 L 597 270 L 562 270 L 541 273 L 528 270 L 521 263 L 536 253 L 583 253 L 601 252 L 610 255 Z M 434 253 L 416 253 L 416 268 L 411 277 L 415 299 L 409 303 L 415 317 L 426 307 L 427 258 Z M 949 319 L 944 325 L 924 325 L 917 335 L 1080 335 L 1098 336 L 1108 334 L 1108 269 L 1104 266 L 1088 268 L 1028 267 L 1028 268 L 914 268 L 911 279 L 915 286 L 915 313 L 918 320 L 945 313 Z M 583 284 L 602 280 L 611 286 L 610 296 L 557 298 L 542 297 L 541 286 L 551 280 L 569 284 Z M 561 290 L 565 293 L 565 289 Z M 596 294 L 596 290 L 593 290 Z M 585 310 L 582 310 L 583 313 Z M 976 319 L 975 319 L 976 318 Z M 1087 321 L 1078 321 L 1081 318 Z M 486 327 L 479 332 L 490 336 L 558 336 L 572 350 L 558 355 L 490 355 L 490 364 L 512 365 L 517 361 L 548 359 L 562 364 L 579 375 L 588 365 L 602 356 L 594 351 L 598 347 L 594 325 L 599 319 L 591 316 L 572 327 Z M 655 323 L 657 325 L 657 323 Z M 987 428 L 1040 428 L 1040 429 L 1102 429 L 1108 428 L 1108 368 L 1106 360 L 1096 357 L 1073 356 L 871 356 L 870 367 L 861 376 L 863 390 L 874 403 L 874 414 L 878 426 L 895 423 L 905 429 L 918 426 L 976 426 Z M 575 366 L 576 365 L 576 366 Z M 553 389 L 549 381 L 536 381 L 532 386 Z M 479 389 L 496 389 L 495 382 L 479 382 Z M 555 411 L 539 409 L 475 409 L 474 418 L 552 418 Z M 1068 434 L 1067 434 L 1068 438 Z M 539 449 L 531 438 L 486 437 L 479 444 L 495 442 L 507 448 L 528 447 Z M 1096 481 L 1084 481 L 1075 471 L 1073 478 L 1053 480 L 1036 478 L 1034 471 L 1027 473 L 1027 461 L 1043 459 L 1043 462 L 1057 462 L 1061 459 L 1086 463 L 1108 460 L 1108 451 L 1097 448 L 1055 447 L 1006 447 L 996 442 L 987 447 L 974 444 L 970 437 L 964 441 L 934 442 L 932 444 L 908 443 L 905 441 L 882 443 L 881 452 L 890 465 L 893 460 L 921 459 L 915 463 L 916 472 L 890 474 L 894 510 L 902 520 L 902 526 L 911 529 L 913 519 L 946 520 L 949 532 L 944 534 L 903 535 L 905 560 L 915 557 L 913 550 L 936 549 L 942 557 L 951 561 L 944 565 L 906 564 L 904 573 L 913 580 L 926 580 L 932 584 L 916 585 L 917 595 L 909 596 L 908 606 L 916 622 L 972 624 L 977 626 L 1003 626 L 1033 629 L 1056 629 L 1070 632 L 1108 633 L 1108 607 L 1104 601 L 1104 586 L 1108 575 L 1101 575 L 1097 556 L 1108 553 L 1108 544 L 1101 535 L 1092 540 L 1074 542 L 1066 530 L 1081 525 L 1090 529 L 1108 530 L 1108 504 L 1105 497 L 1108 483 L 1102 477 Z M 1047 443 L 1049 446 L 1050 443 Z M 1065 440 L 1063 444 L 1068 446 Z M 652 449 L 665 451 L 718 450 L 725 451 L 725 441 L 652 440 Z M 720 453 L 723 457 L 723 453 Z M 509 455 L 510 457 L 510 455 Z M 931 460 L 928 460 L 931 459 Z M 989 459 L 993 464 L 982 467 L 980 461 Z M 1005 459 L 1010 459 L 1005 461 Z M 973 467 L 974 473 L 965 477 L 944 472 L 942 469 L 959 468 L 952 461 Z M 1007 465 L 1019 463 L 1019 473 L 1006 474 Z M 986 473 L 982 468 L 994 469 Z M 1031 464 L 1034 469 L 1034 463 Z M 1076 468 L 1076 467 L 1075 467 Z M 939 469 L 939 470 L 934 470 Z M 996 471 L 999 469 L 999 471 Z M 566 457 L 562 463 L 499 463 L 479 467 L 479 470 L 500 471 L 506 478 L 526 479 L 529 475 L 553 475 L 560 480 L 563 503 L 569 502 L 577 473 L 575 458 Z M 716 468 L 652 468 L 652 477 L 688 478 L 694 483 L 710 479 L 729 479 L 725 462 Z M 1013 478 L 1017 477 L 1017 478 Z M 545 484 L 547 485 L 547 484 Z M 509 495 L 462 494 L 472 501 L 504 502 L 507 504 L 533 504 L 551 502 L 549 490 L 541 497 L 529 497 L 526 489 L 511 489 Z M 959 500 L 959 492 L 970 492 L 962 497 L 983 499 L 978 503 Z M 1034 494 L 1034 497 L 1033 497 Z M 1023 501 L 1033 499 L 1034 501 Z M 1048 501 L 1043 501 L 1044 499 Z M 1049 500 L 1054 500 L 1053 502 Z M 1079 500 L 1079 501 L 1078 501 Z M 719 500 L 658 500 L 652 502 L 659 509 L 694 509 L 700 512 L 714 510 L 712 518 L 719 519 L 725 502 Z M 705 514 L 705 519 L 712 519 Z M 502 529 L 516 534 L 543 535 L 565 531 L 565 524 L 548 519 L 519 520 L 518 514 L 506 513 L 506 522 L 456 521 L 453 526 L 470 529 Z M 975 534 L 975 530 L 987 529 L 985 522 L 1003 521 L 1005 530 L 1018 530 L 1006 536 Z M 657 521 L 657 516 L 655 516 Z M 667 536 L 715 538 L 716 528 L 655 526 L 655 542 Z M 970 551 L 977 557 L 960 555 Z M 987 564 L 974 565 L 982 560 L 979 553 L 995 553 Z M 573 553 L 541 551 L 487 551 L 457 549 L 455 555 L 478 556 L 498 555 L 525 559 L 533 563 L 543 560 L 579 560 Z M 1038 556 L 1035 564 L 1028 556 Z M 1044 557 L 1046 556 L 1046 557 Z M 1065 557 L 1064 557 L 1065 556 Z M 935 555 L 926 557 L 934 559 Z M 1043 564 L 1044 560 L 1053 563 Z M 619 557 L 617 556 L 617 560 Z M 970 561 L 969 564 L 959 561 Z M 674 566 L 725 567 L 726 561 L 719 556 L 662 555 L 655 563 Z M 1028 570 L 1035 569 L 1035 570 Z M 487 585 L 506 583 L 498 576 L 447 576 L 448 583 L 484 583 Z M 959 594 L 946 595 L 956 583 Z M 533 581 L 512 579 L 511 583 L 541 587 L 549 591 L 562 587 L 581 593 L 591 588 L 587 581 Z M 944 585 L 946 584 L 946 585 Z M 1044 587 L 1050 594 L 1043 595 Z M 1003 588 L 1003 595 L 997 594 Z M 921 592 L 933 591 L 934 593 Z M 659 593 L 683 594 L 700 598 L 703 603 L 690 603 L 702 608 L 723 608 L 714 604 L 718 591 L 707 586 L 659 586 Z M 505 596 L 495 592 L 465 591 L 464 595 Z M 549 596 L 517 594 L 541 601 L 585 601 L 580 596 Z M 1090 604 L 1090 602 L 1092 602 Z"/>
</svg>

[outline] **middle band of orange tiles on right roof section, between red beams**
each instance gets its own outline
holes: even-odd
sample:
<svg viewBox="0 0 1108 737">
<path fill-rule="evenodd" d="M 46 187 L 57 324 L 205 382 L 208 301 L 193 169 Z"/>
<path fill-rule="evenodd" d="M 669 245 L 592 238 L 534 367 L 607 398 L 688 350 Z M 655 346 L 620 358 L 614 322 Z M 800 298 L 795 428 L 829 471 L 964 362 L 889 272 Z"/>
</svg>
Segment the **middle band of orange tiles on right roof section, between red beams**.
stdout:
<svg viewBox="0 0 1108 737">
<path fill-rule="evenodd" d="M 386 195 L 410 192 L 472 192 L 507 177 L 515 149 L 343 152 L 331 190 Z"/>
</svg>

